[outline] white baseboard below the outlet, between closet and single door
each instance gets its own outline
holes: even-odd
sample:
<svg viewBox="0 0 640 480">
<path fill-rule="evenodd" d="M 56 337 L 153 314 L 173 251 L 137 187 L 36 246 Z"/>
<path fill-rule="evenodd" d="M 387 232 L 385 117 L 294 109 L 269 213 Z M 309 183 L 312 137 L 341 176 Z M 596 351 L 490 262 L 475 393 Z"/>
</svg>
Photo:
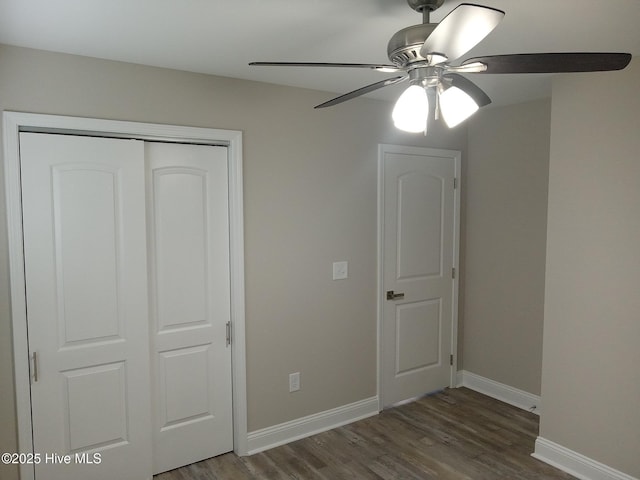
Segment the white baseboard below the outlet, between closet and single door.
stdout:
<svg viewBox="0 0 640 480">
<path fill-rule="evenodd" d="M 290 422 L 255 430 L 248 434 L 248 454 L 253 455 L 378 413 L 378 397 L 375 396 Z"/>
</svg>

